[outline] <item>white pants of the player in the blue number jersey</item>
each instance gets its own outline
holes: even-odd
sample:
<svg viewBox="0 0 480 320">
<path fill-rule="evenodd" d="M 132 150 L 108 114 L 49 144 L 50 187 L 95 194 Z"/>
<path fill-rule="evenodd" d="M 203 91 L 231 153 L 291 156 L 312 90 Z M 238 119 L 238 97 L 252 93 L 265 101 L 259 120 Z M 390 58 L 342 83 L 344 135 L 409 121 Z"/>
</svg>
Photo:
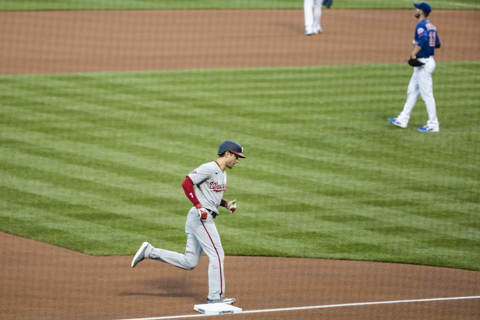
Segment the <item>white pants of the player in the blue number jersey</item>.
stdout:
<svg viewBox="0 0 480 320">
<path fill-rule="evenodd" d="M 397 116 L 397 120 L 403 124 L 408 123 L 410 112 L 415 106 L 418 94 L 420 94 L 423 102 L 425 102 L 426 112 L 428 113 L 428 121 L 426 124 L 429 127 L 437 128 L 439 124 L 436 117 L 436 105 L 435 99 L 433 98 L 433 80 L 431 77 L 436 66 L 435 60 L 433 57 L 418 58 L 418 60 L 425 64 L 413 67 L 413 74 L 411 75 L 406 91 L 406 102 L 403 110 Z"/>
</svg>

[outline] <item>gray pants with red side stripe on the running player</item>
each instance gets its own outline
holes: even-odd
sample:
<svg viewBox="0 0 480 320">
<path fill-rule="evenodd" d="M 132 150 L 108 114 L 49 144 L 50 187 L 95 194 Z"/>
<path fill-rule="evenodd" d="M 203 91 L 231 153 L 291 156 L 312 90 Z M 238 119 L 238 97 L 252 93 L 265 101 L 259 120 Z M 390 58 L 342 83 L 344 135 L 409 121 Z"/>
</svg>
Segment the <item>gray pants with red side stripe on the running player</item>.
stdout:
<svg viewBox="0 0 480 320">
<path fill-rule="evenodd" d="M 211 214 L 208 213 L 208 217 L 201 220 L 196 208 L 192 207 L 186 217 L 185 233 L 186 248 L 184 254 L 149 246 L 145 251 L 145 257 L 191 270 L 198 264 L 201 253 L 205 252 L 210 259 L 208 265 L 208 298 L 221 299 L 225 292 L 224 253 Z"/>
</svg>

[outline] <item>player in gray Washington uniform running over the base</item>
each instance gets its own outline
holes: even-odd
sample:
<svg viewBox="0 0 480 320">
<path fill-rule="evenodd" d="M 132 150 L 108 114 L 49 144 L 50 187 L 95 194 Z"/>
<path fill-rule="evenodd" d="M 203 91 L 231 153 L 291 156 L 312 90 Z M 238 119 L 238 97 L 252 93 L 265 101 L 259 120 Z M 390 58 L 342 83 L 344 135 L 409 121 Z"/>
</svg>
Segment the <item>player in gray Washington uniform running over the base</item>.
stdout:
<svg viewBox="0 0 480 320">
<path fill-rule="evenodd" d="M 153 247 L 143 242 L 131 260 L 134 267 L 143 259 L 155 259 L 185 270 L 193 269 L 202 252 L 210 259 L 208 266 L 208 297 L 206 303 L 231 304 L 235 298 L 226 298 L 225 277 L 223 275 L 223 248 L 216 230 L 215 218 L 223 206 L 233 213 L 236 200 L 225 201 L 222 195 L 226 189 L 226 168 L 233 168 L 238 158 L 245 158 L 243 148 L 235 141 L 224 141 L 218 148 L 216 161 L 207 162 L 194 169 L 181 184 L 183 191 L 193 206 L 188 211 L 185 222 L 185 253 L 177 253 Z"/>
</svg>

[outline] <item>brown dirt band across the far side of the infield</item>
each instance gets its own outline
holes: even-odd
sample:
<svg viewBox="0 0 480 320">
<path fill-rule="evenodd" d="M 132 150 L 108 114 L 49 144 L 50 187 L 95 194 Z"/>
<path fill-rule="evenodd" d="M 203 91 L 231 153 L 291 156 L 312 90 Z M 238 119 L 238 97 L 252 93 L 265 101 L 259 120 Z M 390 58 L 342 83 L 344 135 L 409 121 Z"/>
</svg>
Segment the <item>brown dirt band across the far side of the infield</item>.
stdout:
<svg viewBox="0 0 480 320">
<path fill-rule="evenodd" d="M 406 62 L 414 10 L 0 12 L 0 74 Z M 435 10 L 437 61 L 479 60 L 480 11 Z"/>
</svg>

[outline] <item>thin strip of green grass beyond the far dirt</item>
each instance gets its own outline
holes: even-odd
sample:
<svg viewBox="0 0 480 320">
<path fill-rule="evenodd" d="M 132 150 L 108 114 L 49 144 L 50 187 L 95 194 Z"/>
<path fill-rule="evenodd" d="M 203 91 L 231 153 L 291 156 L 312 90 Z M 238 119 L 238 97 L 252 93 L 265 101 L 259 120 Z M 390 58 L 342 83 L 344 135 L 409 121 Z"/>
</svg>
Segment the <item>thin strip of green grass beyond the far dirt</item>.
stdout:
<svg viewBox="0 0 480 320">
<path fill-rule="evenodd" d="M 332 8 L 411 8 L 413 0 L 334 0 Z M 480 9 L 478 0 L 429 0 L 434 9 Z M 302 0 L 2 0 L 0 10 L 299 9 Z"/>
</svg>

